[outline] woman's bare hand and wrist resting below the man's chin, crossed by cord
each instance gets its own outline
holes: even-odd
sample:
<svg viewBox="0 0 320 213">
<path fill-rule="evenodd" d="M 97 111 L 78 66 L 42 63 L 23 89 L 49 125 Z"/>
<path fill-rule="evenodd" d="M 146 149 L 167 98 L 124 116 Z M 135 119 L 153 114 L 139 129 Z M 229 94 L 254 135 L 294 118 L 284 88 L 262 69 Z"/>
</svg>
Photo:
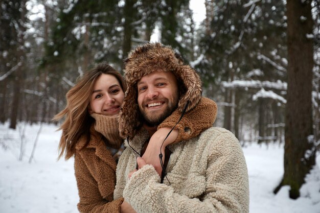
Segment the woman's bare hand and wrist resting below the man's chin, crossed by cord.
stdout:
<svg viewBox="0 0 320 213">
<path fill-rule="evenodd" d="M 143 154 L 142 158 L 144 159 L 146 164 L 153 165 L 155 171 L 161 176 L 162 173 L 162 167 L 159 159 L 160 149 L 162 153 L 162 161 L 165 161 L 165 148 L 167 145 L 173 143 L 173 141 L 177 138 L 179 134 L 179 130 L 173 129 L 173 131 L 170 133 L 169 137 L 164 141 L 167 134 L 169 133 L 171 129 L 168 127 L 161 128 L 157 130 L 152 137 L 150 138 L 148 147 Z M 162 143 L 164 141 L 164 145 L 161 147 Z M 138 159 L 137 159 L 138 161 Z M 139 163 L 138 163 L 139 165 Z M 139 166 L 139 168 L 141 168 Z"/>
</svg>

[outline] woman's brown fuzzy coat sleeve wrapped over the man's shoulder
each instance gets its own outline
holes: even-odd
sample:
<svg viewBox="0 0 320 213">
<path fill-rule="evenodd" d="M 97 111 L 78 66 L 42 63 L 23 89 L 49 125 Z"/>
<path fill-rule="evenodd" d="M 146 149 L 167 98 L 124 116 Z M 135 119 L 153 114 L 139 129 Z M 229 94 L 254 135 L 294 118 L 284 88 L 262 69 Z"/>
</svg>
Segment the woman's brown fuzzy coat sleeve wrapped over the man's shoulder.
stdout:
<svg viewBox="0 0 320 213">
<path fill-rule="evenodd" d="M 180 119 L 181 113 L 176 109 L 157 129 L 172 128 Z M 187 112 L 175 126 L 179 135 L 174 143 L 198 136 L 203 130 L 212 127 L 217 117 L 217 104 L 209 98 L 202 97 L 195 108 Z"/>
</svg>

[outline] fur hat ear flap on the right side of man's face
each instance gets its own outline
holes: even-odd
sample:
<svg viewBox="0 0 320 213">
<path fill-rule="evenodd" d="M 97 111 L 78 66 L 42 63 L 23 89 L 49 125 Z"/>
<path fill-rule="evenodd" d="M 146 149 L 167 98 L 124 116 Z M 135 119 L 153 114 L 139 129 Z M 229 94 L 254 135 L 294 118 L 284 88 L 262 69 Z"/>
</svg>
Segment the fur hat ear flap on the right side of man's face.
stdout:
<svg viewBox="0 0 320 213">
<path fill-rule="evenodd" d="M 195 70 L 189 65 L 183 65 L 179 68 L 177 75 L 181 78 L 187 91 L 180 97 L 178 110 L 182 112 L 187 101 L 189 102 L 186 111 L 193 109 L 201 99 L 202 86 L 201 79 Z"/>
</svg>

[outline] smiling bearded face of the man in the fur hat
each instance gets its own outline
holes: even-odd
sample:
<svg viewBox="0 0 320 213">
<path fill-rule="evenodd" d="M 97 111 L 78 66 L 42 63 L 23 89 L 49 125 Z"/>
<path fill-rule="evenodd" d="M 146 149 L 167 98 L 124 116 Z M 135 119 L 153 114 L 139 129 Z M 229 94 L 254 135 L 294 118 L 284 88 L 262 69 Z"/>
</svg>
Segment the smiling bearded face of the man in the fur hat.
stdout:
<svg viewBox="0 0 320 213">
<path fill-rule="evenodd" d="M 138 82 L 138 104 L 148 126 L 157 126 L 178 105 L 177 79 L 171 72 L 154 72 Z"/>
</svg>

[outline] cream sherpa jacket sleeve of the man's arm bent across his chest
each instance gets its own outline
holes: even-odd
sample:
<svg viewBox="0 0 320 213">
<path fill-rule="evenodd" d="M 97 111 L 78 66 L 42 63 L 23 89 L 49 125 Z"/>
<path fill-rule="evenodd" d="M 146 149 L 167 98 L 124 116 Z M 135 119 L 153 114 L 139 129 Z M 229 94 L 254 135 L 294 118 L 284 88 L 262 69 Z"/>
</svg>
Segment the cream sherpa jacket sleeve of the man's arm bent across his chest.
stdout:
<svg viewBox="0 0 320 213">
<path fill-rule="evenodd" d="M 145 165 L 135 172 L 125 186 L 123 197 L 139 213 L 147 212 L 248 212 L 248 177 L 244 156 L 239 143 L 230 134 L 220 141 L 231 146 L 211 149 L 205 178 L 204 193 L 189 198 L 175 192 L 171 185 L 159 183 L 157 172 Z M 234 143 L 230 143 L 233 139 Z M 170 179 L 170 178 L 169 178 Z"/>
</svg>

